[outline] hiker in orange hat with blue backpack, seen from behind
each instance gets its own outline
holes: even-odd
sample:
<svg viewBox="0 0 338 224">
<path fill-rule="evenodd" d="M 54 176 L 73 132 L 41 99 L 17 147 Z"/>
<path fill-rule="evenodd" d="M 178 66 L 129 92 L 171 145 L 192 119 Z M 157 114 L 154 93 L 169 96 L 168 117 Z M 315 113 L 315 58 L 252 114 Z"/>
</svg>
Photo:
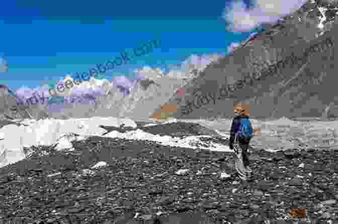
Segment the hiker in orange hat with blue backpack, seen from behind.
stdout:
<svg viewBox="0 0 338 224">
<path fill-rule="evenodd" d="M 247 180 L 251 176 L 249 167 L 248 147 L 253 137 L 252 125 L 249 121 L 245 108 L 241 105 L 234 106 L 236 117 L 233 119 L 230 130 L 229 147 L 234 150 L 237 160 L 235 168 L 242 180 Z"/>
</svg>

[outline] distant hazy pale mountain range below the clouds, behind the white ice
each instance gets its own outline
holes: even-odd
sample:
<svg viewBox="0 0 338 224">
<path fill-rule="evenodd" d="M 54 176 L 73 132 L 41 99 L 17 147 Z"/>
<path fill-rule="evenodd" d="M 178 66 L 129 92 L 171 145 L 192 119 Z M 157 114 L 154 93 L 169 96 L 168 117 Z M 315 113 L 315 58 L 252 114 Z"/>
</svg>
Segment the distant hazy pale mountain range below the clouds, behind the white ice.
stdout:
<svg viewBox="0 0 338 224">
<path fill-rule="evenodd" d="M 130 117 L 135 119 L 148 118 L 152 111 L 161 102 L 170 99 L 174 92 L 186 83 L 184 78 L 164 76 L 154 80 L 138 80 L 134 88 L 128 90 L 128 95 L 122 93 L 121 88 L 113 87 L 106 80 L 102 86 L 93 83 L 83 83 L 86 88 L 102 87 L 106 91 L 105 96 L 97 97 L 95 104 L 78 103 L 56 105 L 52 108 L 48 104 L 18 105 L 16 94 L 7 87 L 0 88 L 0 119 L 67 119 L 89 117 Z M 82 83 L 81 83 L 82 84 Z M 58 97 L 58 96 L 56 96 Z M 59 96 L 62 98 L 62 96 Z M 34 100 L 33 100 L 34 101 Z M 35 102 L 34 102 L 35 103 Z"/>
</svg>

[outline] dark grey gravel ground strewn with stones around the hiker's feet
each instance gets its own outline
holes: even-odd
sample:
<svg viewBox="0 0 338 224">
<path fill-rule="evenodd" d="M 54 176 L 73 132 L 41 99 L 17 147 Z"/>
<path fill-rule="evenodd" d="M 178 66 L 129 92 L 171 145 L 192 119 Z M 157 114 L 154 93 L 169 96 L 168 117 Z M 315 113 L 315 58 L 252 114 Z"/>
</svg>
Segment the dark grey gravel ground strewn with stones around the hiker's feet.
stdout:
<svg viewBox="0 0 338 224">
<path fill-rule="evenodd" d="M 175 130 L 178 124 L 167 125 L 172 134 L 183 136 L 182 124 L 180 131 Z M 191 125 L 186 125 L 185 135 L 195 133 Z M 228 144 L 223 139 L 215 141 Z M 73 142 L 73 146 L 73 151 L 31 147 L 34 152 L 27 159 L 0 169 L 3 220 L 130 224 L 143 219 L 143 223 L 183 224 L 309 223 L 304 221 L 310 219 L 337 223 L 338 156 L 334 150 L 270 153 L 252 149 L 253 178 L 241 181 L 234 171 L 234 154 L 229 152 L 102 137 Z M 100 161 L 107 165 L 91 168 Z M 290 208 L 305 208 L 307 218 L 289 217 Z M 203 214 L 211 219 L 195 222 L 190 212 L 198 220 Z"/>
</svg>

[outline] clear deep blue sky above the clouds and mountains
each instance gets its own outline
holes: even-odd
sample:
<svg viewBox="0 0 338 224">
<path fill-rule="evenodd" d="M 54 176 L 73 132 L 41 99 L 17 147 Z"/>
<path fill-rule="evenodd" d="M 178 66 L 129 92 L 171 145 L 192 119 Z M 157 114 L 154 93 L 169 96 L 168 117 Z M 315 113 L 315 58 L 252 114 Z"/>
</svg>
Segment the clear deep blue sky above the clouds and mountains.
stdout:
<svg viewBox="0 0 338 224">
<path fill-rule="evenodd" d="M 67 73 L 87 72 L 123 49 L 161 40 L 161 47 L 106 72 L 127 75 L 144 65 L 166 68 L 192 54 L 225 53 L 249 33 L 229 33 L 227 1 L 5 1 L 0 16 L 0 54 L 8 73 L 0 84 L 35 88 Z M 247 2 L 246 2 L 247 3 Z M 247 3 L 248 4 L 248 3 Z M 253 32 L 253 31 L 252 31 Z"/>
</svg>

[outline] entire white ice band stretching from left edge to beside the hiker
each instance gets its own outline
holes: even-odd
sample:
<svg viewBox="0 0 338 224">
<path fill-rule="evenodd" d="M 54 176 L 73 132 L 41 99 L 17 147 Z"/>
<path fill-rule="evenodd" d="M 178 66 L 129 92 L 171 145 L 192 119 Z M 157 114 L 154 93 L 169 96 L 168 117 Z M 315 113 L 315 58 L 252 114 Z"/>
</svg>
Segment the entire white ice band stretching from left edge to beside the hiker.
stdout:
<svg viewBox="0 0 338 224">
<path fill-rule="evenodd" d="M 168 123 L 176 122 L 172 120 Z M 171 136 L 152 135 L 139 129 L 126 133 L 113 131 L 106 134 L 106 130 L 99 127 L 106 126 L 131 127 L 135 129 L 136 123 L 130 119 L 99 118 L 72 119 L 72 120 L 24 120 L 21 126 L 7 125 L 0 129 L 0 167 L 18 162 L 27 156 L 25 148 L 31 146 L 54 146 L 57 150 L 72 150 L 71 141 L 85 140 L 90 136 L 102 136 L 108 138 L 123 138 L 130 140 L 148 140 L 158 144 L 185 147 L 201 148 L 216 151 L 230 151 L 228 146 L 213 143 L 211 136 L 190 136 L 180 139 Z M 224 135 L 227 137 L 227 135 Z M 200 138 L 207 138 L 208 144 L 200 141 Z"/>
</svg>

